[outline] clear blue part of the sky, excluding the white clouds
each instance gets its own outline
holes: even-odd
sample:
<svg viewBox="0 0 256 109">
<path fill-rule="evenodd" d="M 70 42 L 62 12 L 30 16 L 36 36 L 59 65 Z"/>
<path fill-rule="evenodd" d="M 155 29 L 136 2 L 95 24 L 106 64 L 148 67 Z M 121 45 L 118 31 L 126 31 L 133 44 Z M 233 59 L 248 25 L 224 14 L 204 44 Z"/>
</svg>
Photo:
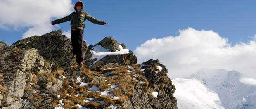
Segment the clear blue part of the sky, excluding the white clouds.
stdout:
<svg viewBox="0 0 256 109">
<path fill-rule="evenodd" d="M 251 40 L 256 34 L 254 0 L 82 0 L 84 11 L 107 22 L 85 23 L 84 40 L 96 44 L 105 36 L 114 37 L 135 50 L 146 40 L 178 35 L 179 29 L 213 30 L 234 44 Z M 72 4 L 77 0 L 72 0 Z M 1 9 L 5 10 L 5 9 Z M 57 9 L 61 10 L 61 9 Z M 40 13 L 38 13 L 40 14 Z M 67 14 L 66 14 L 67 15 Z M 57 18 L 52 18 L 54 20 Z M 36 18 L 35 18 L 36 20 Z M 59 24 L 70 29 L 70 22 Z M 50 24 L 50 22 L 49 22 Z M 11 45 L 28 27 L 18 31 L 0 29 L 0 41 Z"/>
</svg>

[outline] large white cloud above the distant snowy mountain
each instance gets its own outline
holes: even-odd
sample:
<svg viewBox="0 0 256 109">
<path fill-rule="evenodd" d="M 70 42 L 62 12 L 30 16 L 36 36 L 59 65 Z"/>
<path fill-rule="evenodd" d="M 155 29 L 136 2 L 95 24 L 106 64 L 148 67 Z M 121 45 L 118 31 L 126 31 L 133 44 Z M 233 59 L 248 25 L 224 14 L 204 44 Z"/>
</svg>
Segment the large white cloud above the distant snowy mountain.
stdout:
<svg viewBox="0 0 256 109">
<path fill-rule="evenodd" d="M 236 70 L 256 78 L 256 41 L 231 46 L 213 31 L 188 28 L 180 35 L 147 40 L 135 50 L 138 62 L 159 59 L 170 78 L 187 78 L 201 68 Z M 255 37 L 256 38 L 256 37 Z"/>
</svg>

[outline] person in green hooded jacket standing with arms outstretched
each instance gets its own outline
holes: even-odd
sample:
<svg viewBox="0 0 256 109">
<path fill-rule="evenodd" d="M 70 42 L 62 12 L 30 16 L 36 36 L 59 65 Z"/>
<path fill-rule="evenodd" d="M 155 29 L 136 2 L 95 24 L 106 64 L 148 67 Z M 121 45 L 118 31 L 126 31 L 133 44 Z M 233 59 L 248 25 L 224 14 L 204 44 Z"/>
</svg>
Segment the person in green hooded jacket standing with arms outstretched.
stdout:
<svg viewBox="0 0 256 109">
<path fill-rule="evenodd" d="M 75 11 L 71 13 L 70 15 L 57 19 L 55 21 L 52 21 L 51 24 L 59 24 L 63 23 L 66 21 L 71 20 L 71 42 L 73 46 L 73 54 L 76 55 L 76 62 L 78 64 L 83 64 L 84 62 L 84 56 L 83 56 L 83 30 L 85 28 L 85 20 L 87 19 L 88 21 L 94 23 L 94 24 L 99 24 L 99 25 L 104 25 L 107 24 L 104 21 L 100 21 L 88 14 L 87 12 L 83 11 L 83 2 L 78 1 L 75 4 Z"/>
</svg>

